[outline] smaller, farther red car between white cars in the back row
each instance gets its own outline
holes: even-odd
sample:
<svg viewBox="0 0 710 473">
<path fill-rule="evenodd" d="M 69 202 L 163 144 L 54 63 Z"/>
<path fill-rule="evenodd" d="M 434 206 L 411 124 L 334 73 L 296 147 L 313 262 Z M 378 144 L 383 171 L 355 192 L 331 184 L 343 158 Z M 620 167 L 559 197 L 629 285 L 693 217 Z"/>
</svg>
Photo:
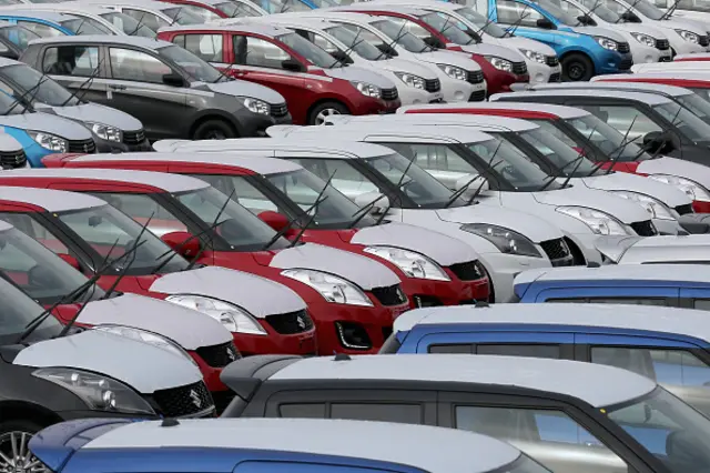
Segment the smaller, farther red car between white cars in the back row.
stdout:
<svg viewBox="0 0 710 473">
<path fill-rule="evenodd" d="M 518 51 L 496 44 L 477 43 L 474 38 L 437 12 L 399 6 L 374 6 L 369 2 L 354 3 L 337 10 L 387 17 L 433 48 L 470 53 L 471 59 L 484 72 L 489 95 L 510 92 L 510 84 L 530 81 L 525 58 Z"/>
</svg>

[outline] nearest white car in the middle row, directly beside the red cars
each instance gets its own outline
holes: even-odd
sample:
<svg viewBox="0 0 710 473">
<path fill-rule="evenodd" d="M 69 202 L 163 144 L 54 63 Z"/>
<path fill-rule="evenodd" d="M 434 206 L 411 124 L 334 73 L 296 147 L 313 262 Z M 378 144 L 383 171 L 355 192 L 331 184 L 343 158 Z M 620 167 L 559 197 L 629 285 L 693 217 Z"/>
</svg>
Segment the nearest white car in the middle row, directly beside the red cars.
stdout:
<svg viewBox="0 0 710 473">
<path fill-rule="evenodd" d="M 244 157 L 287 159 L 321 179 L 332 178 L 335 189 L 364 211 L 372 208 L 377 218 L 386 210 L 392 220 L 424 227 L 470 245 L 488 274 L 490 298 L 497 302 L 513 296 L 513 278 L 525 269 L 585 263 L 584 258 L 575 260 L 569 249 L 574 243 L 559 228 L 516 210 L 467 205 L 469 199 L 462 199 L 386 147 L 339 139 L 328 141 L 323 137 L 318 141 L 254 138 L 196 144 L 168 141 L 155 143 L 155 148 L 165 152 L 231 151 Z M 399 182 L 404 182 L 403 175 L 408 179 L 404 189 Z M 386 195 L 387 203 L 378 201 L 384 201 L 381 195 Z M 600 262 L 601 258 L 597 260 Z"/>
</svg>

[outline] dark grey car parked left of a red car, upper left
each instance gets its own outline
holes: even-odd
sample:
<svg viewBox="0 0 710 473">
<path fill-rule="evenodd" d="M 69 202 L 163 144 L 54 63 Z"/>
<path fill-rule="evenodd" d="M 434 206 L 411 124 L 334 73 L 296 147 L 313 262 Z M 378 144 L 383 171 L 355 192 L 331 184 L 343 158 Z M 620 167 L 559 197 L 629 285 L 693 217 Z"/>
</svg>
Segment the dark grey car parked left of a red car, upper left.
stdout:
<svg viewBox="0 0 710 473">
<path fill-rule="evenodd" d="M 33 41 L 20 60 L 91 102 L 135 117 L 151 141 L 250 137 L 274 123 L 291 123 L 280 93 L 224 78 L 165 41 L 128 36 L 42 39 Z M 141 63 L 152 66 L 136 66 Z M 91 78 L 101 80 L 90 82 Z"/>
</svg>

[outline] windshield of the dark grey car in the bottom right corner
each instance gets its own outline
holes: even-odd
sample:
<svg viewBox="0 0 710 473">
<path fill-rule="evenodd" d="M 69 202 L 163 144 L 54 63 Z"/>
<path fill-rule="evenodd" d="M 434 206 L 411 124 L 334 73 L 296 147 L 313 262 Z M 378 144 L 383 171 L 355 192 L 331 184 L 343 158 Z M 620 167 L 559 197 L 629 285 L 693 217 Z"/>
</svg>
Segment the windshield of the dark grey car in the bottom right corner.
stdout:
<svg viewBox="0 0 710 473">
<path fill-rule="evenodd" d="M 665 389 L 601 411 L 671 473 L 710 471 L 710 420 Z"/>
</svg>

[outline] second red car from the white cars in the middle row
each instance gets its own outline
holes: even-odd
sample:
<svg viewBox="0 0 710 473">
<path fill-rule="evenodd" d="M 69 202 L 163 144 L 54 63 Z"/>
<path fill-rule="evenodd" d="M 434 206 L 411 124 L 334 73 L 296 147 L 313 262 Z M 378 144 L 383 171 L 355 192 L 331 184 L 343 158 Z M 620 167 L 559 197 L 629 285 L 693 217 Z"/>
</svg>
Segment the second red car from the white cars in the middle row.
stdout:
<svg viewBox="0 0 710 473">
<path fill-rule="evenodd" d="M 164 164 L 150 168 L 168 171 Z M 200 263 L 262 275 L 292 289 L 307 304 L 321 353 L 374 353 L 392 332 L 395 318 L 409 309 L 400 280 L 387 266 L 345 251 L 280 238 L 256 215 L 199 179 L 126 170 L 28 169 L 0 173 L 0 185 L 92 193 L 139 223 L 150 219 L 148 229 L 189 259 L 200 252 Z M 225 293 L 230 292 L 239 290 Z M 256 296 L 265 305 L 281 298 L 267 291 Z M 294 338 L 301 352 L 316 350 L 307 316 L 281 322 L 275 329 Z"/>
</svg>

